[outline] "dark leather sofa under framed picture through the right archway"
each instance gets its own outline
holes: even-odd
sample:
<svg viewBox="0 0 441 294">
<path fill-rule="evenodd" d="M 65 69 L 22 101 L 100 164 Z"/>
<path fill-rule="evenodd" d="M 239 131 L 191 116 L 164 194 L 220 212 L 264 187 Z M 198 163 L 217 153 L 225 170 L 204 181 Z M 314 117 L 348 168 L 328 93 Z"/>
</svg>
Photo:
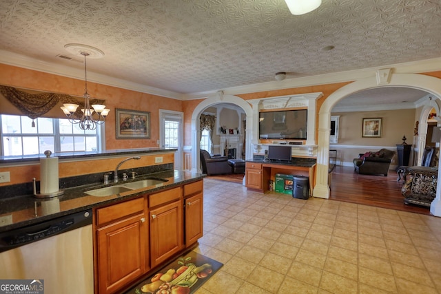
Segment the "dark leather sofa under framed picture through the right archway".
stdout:
<svg viewBox="0 0 441 294">
<path fill-rule="evenodd" d="M 353 167 L 358 174 L 387 176 L 395 154 L 396 151 L 385 148 L 377 152 L 366 152 L 360 158 L 353 159 Z"/>
</svg>

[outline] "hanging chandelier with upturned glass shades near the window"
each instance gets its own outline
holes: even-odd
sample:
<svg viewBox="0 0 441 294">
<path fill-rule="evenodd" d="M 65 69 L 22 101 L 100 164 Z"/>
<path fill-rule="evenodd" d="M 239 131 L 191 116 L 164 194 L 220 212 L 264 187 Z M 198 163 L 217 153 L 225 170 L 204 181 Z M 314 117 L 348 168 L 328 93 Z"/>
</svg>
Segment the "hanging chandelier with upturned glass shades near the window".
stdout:
<svg viewBox="0 0 441 294">
<path fill-rule="evenodd" d="M 65 46 L 65 48 L 68 49 L 69 45 L 75 45 L 76 47 L 70 47 L 74 47 L 76 50 L 79 49 L 79 44 L 68 44 Z M 105 122 L 105 116 L 109 114 L 110 109 L 105 108 L 105 105 L 101 104 L 94 104 L 92 105 L 92 108 L 90 107 L 90 95 L 88 93 L 88 70 L 86 65 L 86 57 L 90 54 L 87 52 L 87 50 L 79 53 L 84 56 L 84 108 L 81 108 L 81 116 L 76 114 L 76 109 L 79 107 L 78 104 L 65 103 L 63 106 L 61 106 L 61 109 L 63 110 L 64 114 L 68 116 L 70 123 L 73 125 L 78 124 L 79 128 L 83 130 L 94 130 L 96 129 L 97 125 L 102 125 Z"/>
</svg>

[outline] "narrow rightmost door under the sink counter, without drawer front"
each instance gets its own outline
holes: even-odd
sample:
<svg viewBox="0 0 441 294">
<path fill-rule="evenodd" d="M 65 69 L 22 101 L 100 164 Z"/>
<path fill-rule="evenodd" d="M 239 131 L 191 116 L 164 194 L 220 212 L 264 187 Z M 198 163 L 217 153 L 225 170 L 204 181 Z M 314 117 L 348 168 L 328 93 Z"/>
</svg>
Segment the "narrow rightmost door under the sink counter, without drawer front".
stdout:
<svg viewBox="0 0 441 294">
<path fill-rule="evenodd" d="M 203 235 L 203 194 L 186 198 L 185 204 L 185 245 L 190 246 Z"/>
</svg>

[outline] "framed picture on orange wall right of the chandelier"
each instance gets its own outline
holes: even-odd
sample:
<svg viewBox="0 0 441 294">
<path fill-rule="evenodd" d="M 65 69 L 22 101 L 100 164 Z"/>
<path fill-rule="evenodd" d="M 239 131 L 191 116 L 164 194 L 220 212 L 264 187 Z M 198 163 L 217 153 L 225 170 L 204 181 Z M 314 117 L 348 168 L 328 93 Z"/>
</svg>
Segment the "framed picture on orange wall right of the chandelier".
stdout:
<svg viewBox="0 0 441 294">
<path fill-rule="evenodd" d="M 117 139 L 150 139 L 150 112 L 116 109 Z"/>
</svg>

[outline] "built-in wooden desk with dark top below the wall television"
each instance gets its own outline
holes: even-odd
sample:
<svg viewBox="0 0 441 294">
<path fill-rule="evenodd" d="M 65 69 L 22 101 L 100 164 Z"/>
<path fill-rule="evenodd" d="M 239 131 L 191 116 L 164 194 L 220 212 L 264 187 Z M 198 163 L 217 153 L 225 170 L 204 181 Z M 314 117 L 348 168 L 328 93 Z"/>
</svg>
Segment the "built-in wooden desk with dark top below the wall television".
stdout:
<svg viewBox="0 0 441 294">
<path fill-rule="evenodd" d="M 309 177 L 309 190 L 316 185 L 316 163 L 280 163 L 265 162 L 263 160 L 245 162 L 245 187 L 263 193 L 269 191 L 269 180 L 275 182 L 276 174 Z"/>
</svg>

